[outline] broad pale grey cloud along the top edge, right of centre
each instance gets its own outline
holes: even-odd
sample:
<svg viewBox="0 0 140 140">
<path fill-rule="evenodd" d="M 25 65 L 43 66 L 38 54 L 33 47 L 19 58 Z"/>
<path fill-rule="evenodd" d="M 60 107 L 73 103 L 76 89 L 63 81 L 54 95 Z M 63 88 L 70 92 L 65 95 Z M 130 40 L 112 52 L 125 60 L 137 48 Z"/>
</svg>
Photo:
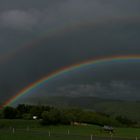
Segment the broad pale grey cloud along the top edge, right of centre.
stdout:
<svg viewBox="0 0 140 140">
<path fill-rule="evenodd" d="M 104 4 L 98 0 L 66 0 L 45 9 L 47 19 L 44 18 L 43 22 L 45 24 L 51 23 L 51 25 L 55 26 L 87 22 L 98 23 L 110 19 L 131 18 L 140 12 L 140 10 L 139 12 L 133 10 L 138 9 L 134 3 L 132 5 L 130 3 L 129 6 L 122 6 L 121 2 L 118 3 L 109 1 L 107 4 Z"/>
</svg>

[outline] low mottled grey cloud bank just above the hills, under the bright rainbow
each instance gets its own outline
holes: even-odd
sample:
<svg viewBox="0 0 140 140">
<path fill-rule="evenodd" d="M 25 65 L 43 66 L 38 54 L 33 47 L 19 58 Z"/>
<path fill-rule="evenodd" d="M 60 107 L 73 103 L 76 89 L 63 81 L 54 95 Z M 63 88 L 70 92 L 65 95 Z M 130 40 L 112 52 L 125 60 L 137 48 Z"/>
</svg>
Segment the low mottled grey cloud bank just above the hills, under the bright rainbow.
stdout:
<svg viewBox="0 0 140 140">
<path fill-rule="evenodd" d="M 140 89 L 133 83 L 126 81 L 110 81 L 108 83 L 77 84 L 59 87 L 50 95 L 57 96 L 89 96 L 107 99 L 137 100 Z"/>
</svg>

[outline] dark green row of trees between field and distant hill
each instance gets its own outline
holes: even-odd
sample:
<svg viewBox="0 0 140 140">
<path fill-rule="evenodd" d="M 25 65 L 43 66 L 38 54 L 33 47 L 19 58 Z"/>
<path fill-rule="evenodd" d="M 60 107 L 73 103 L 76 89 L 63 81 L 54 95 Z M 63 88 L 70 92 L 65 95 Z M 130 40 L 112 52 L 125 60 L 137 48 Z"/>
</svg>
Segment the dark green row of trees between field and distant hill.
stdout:
<svg viewBox="0 0 140 140">
<path fill-rule="evenodd" d="M 116 116 L 82 110 L 78 108 L 60 109 L 51 106 L 41 105 L 25 105 L 19 104 L 17 107 L 7 106 L 1 110 L 0 117 L 2 119 L 36 119 L 40 120 L 42 125 L 57 125 L 72 123 L 85 123 L 96 125 L 111 125 L 111 126 L 131 126 L 137 125 L 136 121 L 128 119 L 126 116 Z"/>
</svg>

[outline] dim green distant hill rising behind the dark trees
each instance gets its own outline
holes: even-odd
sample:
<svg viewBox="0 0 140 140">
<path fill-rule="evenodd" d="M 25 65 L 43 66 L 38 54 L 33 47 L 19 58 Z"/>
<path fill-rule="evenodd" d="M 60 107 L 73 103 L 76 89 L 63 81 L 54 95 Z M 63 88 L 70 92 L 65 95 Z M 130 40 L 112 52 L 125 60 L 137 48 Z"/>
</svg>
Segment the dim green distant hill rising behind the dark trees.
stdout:
<svg viewBox="0 0 140 140">
<path fill-rule="evenodd" d="M 112 116 L 126 116 L 130 119 L 140 121 L 140 101 L 110 100 L 95 97 L 49 96 L 44 99 L 29 98 L 26 103 L 52 105 L 63 108 L 83 108 L 107 113 Z"/>
</svg>

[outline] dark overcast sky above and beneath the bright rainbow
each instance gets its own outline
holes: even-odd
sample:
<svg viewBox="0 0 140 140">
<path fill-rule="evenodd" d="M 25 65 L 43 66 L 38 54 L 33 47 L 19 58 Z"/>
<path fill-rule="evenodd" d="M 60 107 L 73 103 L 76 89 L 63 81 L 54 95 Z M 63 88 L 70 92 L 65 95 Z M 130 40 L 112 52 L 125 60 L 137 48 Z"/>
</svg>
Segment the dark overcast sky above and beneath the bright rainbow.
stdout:
<svg viewBox="0 0 140 140">
<path fill-rule="evenodd" d="M 94 57 L 139 54 L 139 7 L 139 0 L 1 0 L 1 101 L 62 66 Z M 111 73 L 110 68 L 115 65 L 119 73 L 115 69 Z M 87 75 L 81 76 L 82 80 L 77 78 L 76 94 L 82 95 L 79 87 L 85 87 L 79 81 L 87 81 L 87 87 L 92 93 L 94 89 L 96 95 L 110 96 L 111 92 L 125 91 L 127 97 L 127 93 L 130 95 L 135 90 L 137 97 L 140 89 L 134 85 L 140 83 L 140 62 L 135 65 L 127 63 L 125 68 L 118 63 L 115 65 L 104 66 L 106 71 L 96 67 L 98 76 L 94 82 L 88 80 L 90 76 Z M 107 85 L 103 82 L 105 72 Z M 122 78 L 122 75 L 125 76 Z M 69 86 L 76 86 L 70 77 L 65 80 L 68 83 L 60 82 L 62 84 L 57 86 L 57 91 L 51 91 L 52 85 L 48 87 L 49 91 L 56 93 L 60 87 L 64 91 Z M 115 82 L 124 86 L 123 90 L 121 86 L 114 90 L 112 83 Z M 64 86 L 63 83 L 67 84 Z M 56 82 L 53 84 L 57 85 Z M 102 92 L 97 90 L 99 85 Z M 131 88 L 129 92 L 128 87 Z M 86 91 L 89 93 L 89 90 Z"/>
</svg>

